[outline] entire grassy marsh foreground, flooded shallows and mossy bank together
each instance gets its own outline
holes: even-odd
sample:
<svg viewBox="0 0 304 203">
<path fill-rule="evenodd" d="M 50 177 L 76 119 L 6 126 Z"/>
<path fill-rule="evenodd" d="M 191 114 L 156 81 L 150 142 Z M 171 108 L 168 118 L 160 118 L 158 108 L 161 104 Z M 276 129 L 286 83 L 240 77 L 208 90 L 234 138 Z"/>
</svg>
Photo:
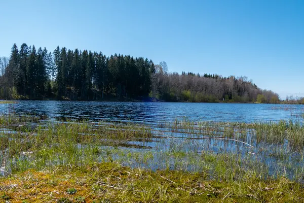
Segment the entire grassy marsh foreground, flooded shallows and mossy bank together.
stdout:
<svg viewBox="0 0 304 203">
<path fill-rule="evenodd" d="M 303 202 L 300 122 L 0 117 L 0 202 Z"/>
</svg>

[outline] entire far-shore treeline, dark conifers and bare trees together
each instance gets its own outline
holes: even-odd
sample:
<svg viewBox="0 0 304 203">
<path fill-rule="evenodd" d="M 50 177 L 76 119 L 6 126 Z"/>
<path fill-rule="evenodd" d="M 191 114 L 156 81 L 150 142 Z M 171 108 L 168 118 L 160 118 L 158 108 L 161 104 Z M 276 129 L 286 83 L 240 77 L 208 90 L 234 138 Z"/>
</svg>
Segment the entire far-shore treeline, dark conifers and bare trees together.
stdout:
<svg viewBox="0 0 304 203">
<path fill-rule="evenodd" d="M 143 57 L 14 44 L 0 58 L 0 98 L 278 103 L 246 77 L 168 73 L 165 62 Z"/>
</svg>

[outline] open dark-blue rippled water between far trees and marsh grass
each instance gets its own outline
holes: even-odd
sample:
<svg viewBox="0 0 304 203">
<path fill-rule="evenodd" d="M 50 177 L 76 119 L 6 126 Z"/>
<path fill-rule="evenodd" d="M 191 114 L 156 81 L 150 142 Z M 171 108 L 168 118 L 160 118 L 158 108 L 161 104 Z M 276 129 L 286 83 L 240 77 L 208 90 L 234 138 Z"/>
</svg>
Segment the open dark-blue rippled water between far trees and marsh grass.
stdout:
<svg viewBox="0 0 304 203">
<path fill-rule="evenodd" d="M 0 105 L 0 112 L 31 114 L 48 120 L 87 118 L 148 124 L 186 117 L 195 121 L 250 123 L 301 119 L 304 105 L 20 100 L 17 104 Z"/>
</svg>

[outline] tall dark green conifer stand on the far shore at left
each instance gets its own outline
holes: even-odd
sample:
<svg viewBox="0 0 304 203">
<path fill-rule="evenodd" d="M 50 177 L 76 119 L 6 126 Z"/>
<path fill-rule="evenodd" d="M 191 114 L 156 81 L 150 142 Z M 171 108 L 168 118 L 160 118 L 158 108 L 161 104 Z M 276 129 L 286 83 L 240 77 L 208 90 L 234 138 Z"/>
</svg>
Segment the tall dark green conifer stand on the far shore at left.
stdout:
<svg viewBox="0 0 304 203">
<path fill-rule="evenodd" d="M 4 58 L 2 59 L 4 60 Z M 93 100 L 148 96 L 155 65 L 143 57 L 67 50 L 48 52 L 41 47 L 13 45 L 2 65 L 3 98 L 54 98 Z"/>
</svg>

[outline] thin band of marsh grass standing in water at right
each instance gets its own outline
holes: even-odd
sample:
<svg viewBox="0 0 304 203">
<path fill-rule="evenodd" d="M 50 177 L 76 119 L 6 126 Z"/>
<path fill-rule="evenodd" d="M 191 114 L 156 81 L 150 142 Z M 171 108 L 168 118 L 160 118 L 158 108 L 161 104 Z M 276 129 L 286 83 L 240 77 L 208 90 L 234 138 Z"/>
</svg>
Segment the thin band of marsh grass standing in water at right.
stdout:
<svg viewBox="0 0 304 203">
<path fill-rule="evenodd" d="M 192 137 L 200 136 L 223 136 L 225 138 L 249 140 L 260 143 L 286 144 L 298 150 L 304 147 L 304 126 L 300 121 L 279 122 L 254 122 L 229 123 L 229 122 L 208 122 L 175 120 L 167 122 L 162 127 L 167 127 L 174 133 L 188 133 Z"/>
</svg>

